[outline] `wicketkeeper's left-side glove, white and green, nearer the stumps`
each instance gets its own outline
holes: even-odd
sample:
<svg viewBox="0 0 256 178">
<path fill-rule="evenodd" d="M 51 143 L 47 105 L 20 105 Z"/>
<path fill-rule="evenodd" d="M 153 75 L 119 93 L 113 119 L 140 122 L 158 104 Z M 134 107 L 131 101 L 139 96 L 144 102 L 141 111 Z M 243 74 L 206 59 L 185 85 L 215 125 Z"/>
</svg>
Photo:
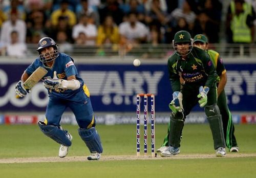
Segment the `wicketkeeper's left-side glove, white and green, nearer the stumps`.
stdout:
<svg viewBox="0 0 256 178">
<path fill-rule="evenodd" d="M 182 93 L 181 92 L 174 92 L 173 93 L 173 100 L 169 103 L 169 108 L 172 110 L 174 114 L 177 112 L 183 113 L 183 105 L 182 105 Z"/>
</svg>

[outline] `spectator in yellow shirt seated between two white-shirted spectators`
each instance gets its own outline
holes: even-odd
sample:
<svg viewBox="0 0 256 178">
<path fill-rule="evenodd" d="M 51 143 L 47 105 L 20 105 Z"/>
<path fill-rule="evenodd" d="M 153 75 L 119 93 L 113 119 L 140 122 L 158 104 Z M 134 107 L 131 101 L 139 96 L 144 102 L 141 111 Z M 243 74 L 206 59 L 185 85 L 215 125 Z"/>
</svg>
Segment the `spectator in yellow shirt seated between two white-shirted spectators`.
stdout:
<svg viewBox="0 0 256 178">
<path fill-rule="evenodd" d="M 104 23 L 98 28 L 97 45 L 117 43 L 119 43 L 118 27 L 114 24 L 113 17 L 108 15 L 105 17 Z"/>
</svg>

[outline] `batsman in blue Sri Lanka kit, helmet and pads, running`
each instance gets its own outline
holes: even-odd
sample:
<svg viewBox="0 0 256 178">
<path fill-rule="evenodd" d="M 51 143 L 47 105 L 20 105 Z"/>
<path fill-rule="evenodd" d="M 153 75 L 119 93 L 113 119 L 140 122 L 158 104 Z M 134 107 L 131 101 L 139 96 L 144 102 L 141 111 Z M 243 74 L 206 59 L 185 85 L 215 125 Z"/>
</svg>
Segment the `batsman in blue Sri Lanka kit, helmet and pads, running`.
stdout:
<svg viewBox="0 0 256 178">
<path fill-rule="evenodd" d="M 19 97 L 25 97 L 29 90 L 24 87 L 23 83 L 39 66 L 45 68 L 48 73 L 43 77 L 43 84 L 48 90 L 49 103 L 45 121 L 38 122 L 40 130 L 60 144 L 59 157 L 66 157 L 73 137 L 67 130 L 63 130 L 59 123 L 62 114 L 69 107 L 79 126 L 78 133 L 91 152 L 88 160 L 99 160 L 103 148 L 95 128 L 96 120 L 90 93 L 78 75 L 74 60 L 67 54 L 60 53 L 55 41 L 49 37 L 39 40 L 37 51 L 39 57 L 28 66 L 16 84 L 16 94 Z"/>
</svg>

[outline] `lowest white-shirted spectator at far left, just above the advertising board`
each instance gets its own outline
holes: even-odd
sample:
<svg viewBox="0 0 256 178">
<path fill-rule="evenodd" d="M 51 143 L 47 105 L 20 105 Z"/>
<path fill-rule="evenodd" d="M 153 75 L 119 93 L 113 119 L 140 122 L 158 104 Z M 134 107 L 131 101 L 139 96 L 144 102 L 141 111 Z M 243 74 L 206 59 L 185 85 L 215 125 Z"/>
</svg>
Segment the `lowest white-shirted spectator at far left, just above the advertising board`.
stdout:
<svg viewBox="0 0 256 178">
<path fill-rule="evenodd" d="M 26 56 L 27 46 L 24 42 L 19 42 L 18 32 L 11 32 L 11 43 L 6 46 L 6 55 L 11 57 L 24 57 Z"/>
</svg>

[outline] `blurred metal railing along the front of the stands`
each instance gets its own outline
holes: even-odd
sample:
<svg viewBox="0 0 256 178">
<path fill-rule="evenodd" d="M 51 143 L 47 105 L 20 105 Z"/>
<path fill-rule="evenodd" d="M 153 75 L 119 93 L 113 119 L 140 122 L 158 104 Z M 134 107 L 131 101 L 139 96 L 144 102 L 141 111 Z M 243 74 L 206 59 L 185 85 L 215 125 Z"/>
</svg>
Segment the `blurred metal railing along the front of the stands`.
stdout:
<svg viewBox="0 0 256 178">
<path fill-rule="evenodd" d="M 216 50 L 224 58 L 254 58 L 256 55 L 256 44 L 230 44 L 230 43 L 215 43 L 209 44 L 209 49 Z M 27 44 L 27 57 L 37 57 L 37 44 Z M 65 52 L 72 57 L 96 58 L 96 59 L 125 59 L 125 58 L 140 58 L 140 59 L 166 59 L 174 50 L 172 44 L 136 44 L 119 46 L 78 46 L 72 44 L 69 48 L 63 49 L 59 44 L 60 52 Z M 247 53 L 248 51 L 248 53 Z M 248 56 L 249 55 L 249 56 Z M 6 56 L 5 56 L 6 57 Z M 3 58 L 3 57 L 1 57 Z M 256 60 L 256 59 L 255 59 Z"/>
</svg>

